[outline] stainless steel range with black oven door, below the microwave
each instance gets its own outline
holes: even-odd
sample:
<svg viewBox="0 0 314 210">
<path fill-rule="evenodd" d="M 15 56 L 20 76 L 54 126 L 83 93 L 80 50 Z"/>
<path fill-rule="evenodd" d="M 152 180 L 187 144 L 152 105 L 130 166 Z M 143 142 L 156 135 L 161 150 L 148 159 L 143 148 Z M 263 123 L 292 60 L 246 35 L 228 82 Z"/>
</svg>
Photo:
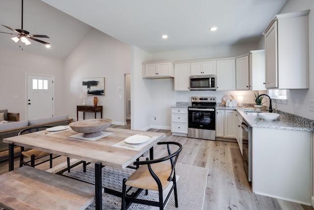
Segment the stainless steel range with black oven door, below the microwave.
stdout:
<svg viewBox="0 0 314 210">
<path fill-rule="evenodd" d="M 187 137 L 216 140 L 216 97 L 191 97 L 188 110 Z"/>
</svg>

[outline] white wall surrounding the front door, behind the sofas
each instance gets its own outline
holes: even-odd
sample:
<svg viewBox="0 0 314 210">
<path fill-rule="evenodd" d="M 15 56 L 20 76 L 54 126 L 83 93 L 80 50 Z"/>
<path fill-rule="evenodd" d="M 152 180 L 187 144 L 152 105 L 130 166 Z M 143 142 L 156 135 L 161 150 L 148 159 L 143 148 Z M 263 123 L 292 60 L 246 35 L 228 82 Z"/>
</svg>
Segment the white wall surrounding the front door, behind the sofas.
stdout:
<svg viewBox="0 0 314 210">
<path fill-rule="evenodd" d="M 0 109 L 20 113 L 20 120 L 26 119 L 25 77 L 31 73 L 54 76 L 54 116 L 66 114 L 63 60 L 26 53 L 16 46 L 17 50 L 0 48 Z"/>
</svg>

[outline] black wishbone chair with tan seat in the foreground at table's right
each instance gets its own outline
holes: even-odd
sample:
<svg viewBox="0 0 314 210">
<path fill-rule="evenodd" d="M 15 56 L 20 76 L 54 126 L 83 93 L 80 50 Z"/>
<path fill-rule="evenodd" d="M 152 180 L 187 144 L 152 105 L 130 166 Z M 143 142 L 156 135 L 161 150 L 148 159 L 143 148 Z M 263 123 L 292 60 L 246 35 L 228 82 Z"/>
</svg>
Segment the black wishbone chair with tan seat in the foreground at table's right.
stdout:
<svg viewBox="0 0 314 210">
<path fill-rule="evenodd" d="M 122 206 L 121 209 L 125 210 L 131 205 L 131 203 L 144 204 L 149 206 L 159 207 L 159 210 L 163 210 L 165 204 L 167 203 L 172 191 L 174 191 L 175 205 L 178 207 L 178 194 L 177 194 L 177 182 L 176 182 L 176 171 L 175 165 L 182 150 L 182 145 L 177 142 L 159 142 L 158 145 L 167 145 L 168 155 L 159 159 L 146 161 L 136 161 L 133 164 L 135 166 L 140 165 L 140 167 L 129 177 L 129 179 L 123 179 L 122 185 Z M 178 146 L 178 150 L 171 152 L 170 146 Z M 165 164 L 164 162 L 169 160 L 170 164 Z M 170 183 L 173 183 L 169 193 L 165 200 L 163 200 L 162 192 L 166 189 Z M 129 188 L 127 189 L 127 186 Z M 131 188 L 138 188 L 135 192 L 128 194 Z M 170 186 L 169 186 L 170 187 Z M 158 191 L 158 201 L 150 201 L 144 199 L 135 198 L 143 189 L 146 190 L 146 195 L 148 190 Z"/>
</svg>

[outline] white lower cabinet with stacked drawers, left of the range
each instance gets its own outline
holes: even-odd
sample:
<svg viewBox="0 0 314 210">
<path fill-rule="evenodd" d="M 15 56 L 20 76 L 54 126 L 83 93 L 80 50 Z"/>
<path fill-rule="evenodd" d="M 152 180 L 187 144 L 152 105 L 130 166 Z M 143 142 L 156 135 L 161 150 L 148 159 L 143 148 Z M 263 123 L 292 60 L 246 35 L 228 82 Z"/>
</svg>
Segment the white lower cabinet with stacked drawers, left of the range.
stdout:
<svg viewBox="0 0 314 210">
<path fill-rule="evenodd" d="M 187 136 L 187 108 L 171 109 L 171 132 L 176 136 Z"/>
</svg>

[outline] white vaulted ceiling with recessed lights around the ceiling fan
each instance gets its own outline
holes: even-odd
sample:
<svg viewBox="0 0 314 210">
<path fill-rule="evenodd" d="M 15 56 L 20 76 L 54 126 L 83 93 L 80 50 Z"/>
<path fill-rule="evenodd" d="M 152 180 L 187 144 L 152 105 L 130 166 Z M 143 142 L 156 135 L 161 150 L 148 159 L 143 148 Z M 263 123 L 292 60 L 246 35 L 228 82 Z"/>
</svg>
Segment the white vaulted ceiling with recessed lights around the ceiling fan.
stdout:
<svg viewBox="0 0 314 210">
<path fill-rule="evenodd" d="M 64 59 L 94 27 L 148 53 L 255 43 L 288 0 L 24 0 L 23 50 Z M 0 1 L 0 24 L 21 29 L 21 0 Z M 210 27 L 217 26 L 212 32 Z M 10 32 L 0 26 L 0 31 Z M 168 39 L 161 35 L 167 34 Z M 21 49 L 0 33 L 0 47 Z"/>
</svg>

